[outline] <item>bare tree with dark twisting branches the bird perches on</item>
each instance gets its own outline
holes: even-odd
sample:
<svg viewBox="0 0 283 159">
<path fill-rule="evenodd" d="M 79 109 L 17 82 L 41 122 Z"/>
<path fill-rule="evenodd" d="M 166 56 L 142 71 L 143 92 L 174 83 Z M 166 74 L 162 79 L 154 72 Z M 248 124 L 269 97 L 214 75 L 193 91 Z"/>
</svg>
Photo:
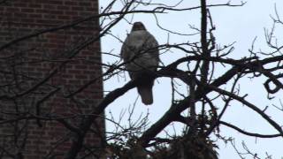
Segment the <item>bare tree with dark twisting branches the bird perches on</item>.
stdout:
<svg viewBox="0 0 283 159">
<path fill-rule="evenodd" d="M 1 3 L 6 3 L 3 1 Z M 123 6 L 119 11 L 114 10 L 117 3 Z M 200 0 L 199 5 L 194 7 L 182 6 L 182 1 L 175 5 L 155 4 L 151 1 L 116 1 L 102 9 L 100 13 L 88 15 L 84 19 L 78 19 L 68 24 L 62 24 L 56 27 L 40 29 L 38 31 L 29 31 L 28 34 L 19 35 L 16 39 L 9 42 L 1 43 L 1 86 L 0 101 L 4 105 L 12 105 L 8 110 L 1 110 L 1 122 L 3 126 L 13 126 L 9 133 L 13 139 L 13 144 L 7 146 L 7 142 L 0 145 L 1 157 L 23 158 L 22 150 L 30 138 L 28 135 L 29 123 L 35 123 L 39 127 L 49 123 L 57 123 L 64 126 L 67 134 L 60 140 L 56 140 L 55 146 L 44 154 L 45 158 L 55 158 L 60 156 L 65 159 L 73 158 L 199 158 L 199 159 L 215 159 L 218 158 L 217 143 L 211 140 L 211 136 L 217 136 L 220 140 L 226 140 L 233 144 L 233 140 L 226 139 L 220 135 L 219 126 L 227 126 L 233 130 L 256 138 L 276 138 L 282 137 L 283 132 L 279 121 L 272 119 L 272 115 L 268 114 L 265 108 L 261 110 L 255 103 L 247 100 L 246 94 L 242 94 L 239 89 L 241 85 L 240 79 L 249 76 L 251 79 L 264 78 L 264 91 L 268 93 L 267 100 L 272 100 L 283 88 L 281 79 L 283 77 L 282 63 L 283 60 L 281 49 L 283 48 L 275 38 L 275 28 L 283 27 L 283 22 L 279 18 L 279 14 L 273 18 L 274 26 L 271 31 L 265 31 L 266 43 L 272 51 L 256 52 L 252 48 L 249 49 L 249 57 L 241 57 L 233 59 L 229 57 L 233 52 L 233 43 L 226 46 L 219 46 L 214 36 L 215 24 L 213 24 L 210 8 L 212 7 L 236 7 L 241 4 L 208 4 L 206 0 Z M 1 4 L 2 5 L 2 4 Z M 139 6 L 146 6 L 149 9 L 140 10 Z M 185 43 L 161 43 L 158 49 L 161 53 L 178 50 L 183 53 L 183 57 L 172 62 L 172 64 L 160 64 L 157 72 L 154 72 L 154 78 L 158 79 L 166 77 L 172 79 L 172 102 L 168 103 L 169 110 L 166 110 L 163 117 L 156 123 L 149 125 L 148 117 L 141 116 L 138 120 L 133 120 L 134 107 L 129 108 L 123 113 L 128 113 L 128 125 L 123 125 L 121 119 L 114 117 L 104 118 L 103 110 L 109 106 L 111 102 L 115 102 L 121 95 L 124 95 L 130 89 L 136 87 L 139 79 L 134 79 L 126 83 L 123 87 L 118 87 L 104 95 L 101 101 L 86 102 L 87 99 L 80 100 L 78 96 L 86 91 L 92 85 L 100 80 L 107 80 L 115 77 L 121 77 L 124 74 L 125 64 L 131 61 L 117 61 L 114 64 L 102 64 L 97 61 L 81 59 L 80 53 L 84 49 L 91 49 L 94 42 L 99 42 L 103 36 L 114 36 L 111 34 L 111 28 L 116 27 L 121 20 L 126 20 L 129 24 L 133 22 L 126 19 L 126 15 L 133 14 L 165 14 L 172 11 L 201 11 L 201 23 L 198 27 L 191 27 L 195 30 L 195 35 L 199 37 L 196 42 Z M 65 52 L 60 56 L 41 57 L 34 60 L 28 59 L 30 46 L 24 48 L 25 42 L 41 41 L 45 35 L 50 33 L 68 32 L 74 29 L 80 33 L 80 27 L 92 22 L 93 19 L 100 19 L 100 32 L 91 34 L 87 38 L 77 39 L 77 41 L 65 46 Z M 157 21 L 157 26 L 160 26 Z M 166 30 L 171 34 L 180 34 L 172 30 Z M 83 32 L 83 30 L 81 31 Z M 187 34 L 180 34 L 186 36 Z M 116 37 L 118 41 L 123 40 Z M 187 35 L 189 40 L 190 36 Z M 119 57 L 119 52 L 102 53 Z M 73 62 L 90 63 L 96 68 L 103 67 L 104 72 L 101 75 L 88 79 L 79 87 L 71 87 L 64 90 L 62 95 L 65 100 L 71 102 L 75 107 L 90 106 L 92 110 L 86 112 L 73 112 L 56 114 L 50 111 L 52 107 L 49 103 L 54 95 L 62 91 L 62 87 L 58 83 L 52 83 L 51 79 L 62 73 L 67 64 Z M 36 79 L 34 75 L 27 69 L 27 64 L 50 64 L 50 69 L 41 74 L 40 79 Z M 53 64 L 53 65 L 52 65 Z M 180 67 L 187 65 L 187 67 Z M 226 70 L 221 74 L 215 71 L 221 65 L 226 66 Z M 36 65 L 35 65 L 36 66 Z M 98 66 L 98 67 L 97 67 Z M 223 70 L 223 68 L 221 67 Z M 37 72 L 38 73 L 38 72 Z M 67 75 L 68 73 L 66 73 Z M 60 77 L 60 76 L 59 76 Z M 181 94 L 176 88 L 176 80 L 181 81 L 182 87 L 187 87 L 187 95 Z M 225 86 L 225 87 L 224 87 Z M 273 86 L 273 87 L 272 87 Z M 99 90 L 102 91 L 102 90 Z M 181 96 L 176 97 L 178 94 Z M 213 95 L 212 95 L 213 94 Z M 264 98 L 261 97 L 261 98 Z M 233 103 L 232 103 L 233 102 Z M 263 134 L 261 132 L 247 132 L 241 127 L 226 122 L 222 117 L 228 110 L 230 105 L 241 104 L 256 112 L 269 125 L 271 125 L 277 133 Z M 134 104 L 135 105 L 135 104 Z M 282 103 L 275 105 L 279 111 L 282 111 Z M 80 109 L 79 109 L 80 110 Z M 186 112 L 186 113 L 183 113 Z M 107 133 L 106 137 L 97 126 L 96 120 L 106 119 L 117 126 L 117 131 Z M 158 133 L 164 131 L 164 128 L 172 122 L 178 122 L 184 125 L 181 135 L 170 135 L 166 137 L 157 136 Z M 86 138 L 89 133 L 100 135 L 103 140 L 103 148 L 94 148 L 88 145 Z M 8 136 L 9 136 L 8 135 Z M 60 145 L 65 144 L 65 140 L 70 141 L 70 147 L 64 154 L 56 154 L 56 150 Z M 255 152 L 252 152 L 243 143 L 246 152 L 242 154 L 237 151 L 241 158 L 245 155 L 251 155 L 254 158 L 260 158 Z M 236 148 L 234 146 L 234 148 Z M 87 152 L 81 155 L 81 152 Z M 17 152 L 15 154 L 14 152 Z M 267 158 L 271 158 L 267 155 Z"/>
</svg>

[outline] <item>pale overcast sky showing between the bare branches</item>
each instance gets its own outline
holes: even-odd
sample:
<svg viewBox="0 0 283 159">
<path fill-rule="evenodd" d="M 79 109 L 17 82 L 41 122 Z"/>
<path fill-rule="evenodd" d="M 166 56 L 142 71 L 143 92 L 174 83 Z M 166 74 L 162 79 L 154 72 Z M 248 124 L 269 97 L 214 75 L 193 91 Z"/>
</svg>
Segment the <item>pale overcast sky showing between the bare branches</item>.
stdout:
<svg viewBox="0 0 283 159">
<path fill-rule="evenodd" d="M 110 0 L 100 0 L 101 6 L 106 6 Z M 162 0 L 156 0 L 153 2 L 162 3 Z M 172 2 L 172 3 L 171 3 Z M 178 1 L 172 0 L 168 1 L 168 4 L 174 4 Z M 180 5 L 181 8 L 184 7 L 193 7 L 196 6 L 198 1 L 184 2 Z M 214 0 L 213 3 L 224 4 L 226 0 Z M 239 4 L 241 1 L 231 1 L 231 4 Z M 216 26 L 216 41 L 218 44 L 224 46 L 232 42 L 234 44 L 234 51 L 230 57 L 241 58 L 249 56 L 248 49 L 251 46 L 254 38 L 257 36 L 256 49 L 268 50 L 264 43 L 264 27 L 270 29 L 272 27 L 272 19 L 270 16 L 275 16 L 274 6 L 277 6 L 280 17 L 283 19 L 283 1 L 282 0 L 248 0 L 247 4 L 242 7 L 215 7 L 211 8 L 210 12 Z M 116 6 L 116 9 L 119 10 L 120 5 Z M 145 8 L 143 8 L 145 9 Z M 132 21 L 142 21 L 149 32 L 154 34 L 157 38 L 159 44 L 169 43 L 178 43 L 178 42 L 196 42 L 199 37 L 196 36 L 180 36 L 175 34 L 168 34 L 166 31 L 157 27 L 157 21 L 154 16 L 151 14 L 137 14 L 132 16 L 126 16 L 126 19 L 133 19 Z M 172 11 L 168 14 L 162 14 L 157 16 L 159 24 L 169 30 L 182 34 L 193 34 L 194 30 L 189 29 L 189 25 L 199 27 L 200 24 L 200 10 L 195 11 L 183 11 L 177 12 Z M 121 21 L 118 26 L 114 27 L 111 30 L 111 34 L 119 37 L 121 40 L 126 38 L 126 33 L 131 29 L 131 26 L 126 23 L 126 21 Z M 282 30 L 278 32 L 279 37 L 283 35 Z M 169 38 L 168 38 L 169 37 Z M 280 41 L 282 42 L 283 41 Z M 113 54 L 119 55 L 121 42 L 111 35 L 107 35 L 102 39 L 102 50 L 103 52 L 111 52 Z M 161 60 L 164 64 L 170 64 L 174 59 L 184 56 L 179 51 L 174 51 L 171 53 L 166 53 L 161 55 Z M 113 63 L 118 61 L 119 58 L 111 57 L 104 55 L 104 63 Z M 224 71 L 224 70 L 223 70 Z M 222 70 L 219 69 L 218 73 L 221 73 Z M 127 76 L 127 74 L 126 74 Z M 118 79 L 116 77 L 107 80 L 104 82 L 104 90 L 111 91 L 117 87 L 122 87 L 127 81 L 126 79 Z M 272 108 L 272 104 L 278 104 L 279 98 L 276 98 L 272 101 L 266 101 L 266 92 L 264 91 L 263 84 L 264 79 L 242 79 L 241 80 L 241 95 L 249 94 L 248 100 L 250 102 L 256 103 L 256 105 L 264 109 L 265 106 L 270 106 L 267 113 L 272 116 L 272 119 L 277 119 L 280 125 L 283 125 L 282 117 L 283 112 L 279 112 Z M 186 87 L 180 86 L 180 90 L 186 92 Z M 164 115 L 164 112 L 169 109 L 171 103 L 171 87 L 170 79 L 157 79 L 154 90 L 154 103 L 150 106 L 144 106 L 139 98 L 136 103 L 136 110 L 134 115 L 138 117 L 141 113 L 146 114 L 149 112 L 149 121 L 151 124 L 154 121 L 157 121 L 160 117 Z M 277 96 L 282 96 L 282 91 L 279 91 Z M 134 101 L 138 97 L 136 90 L 133 89 L 120 97 L 117 101 L 113 102 L 108 109 L 106 110 L 106 116 L 109 117 L 109 111 L 111 110 L 114 117 L 119 118 L 119 112 L 125 110 L 128 106 L 133 105 Z M 265 133 L 272 134 L 276 133 L 275 130 L 271 128 L 261 117 L 258 117 L 254 112 L 243 107 L 241 104 L 233 102 L 232 107 L 226 112 L 224 119 L 227 122 L 233 123 L 234 125 L 241 126 L 244 130 L 254 133 Z M 124 120 L 126 122 L 126 118 Z M 180 125 L 175 125 L 180 127 Z M 107 122 L 107 129 L 111 131 L 113 126 Z M 172 127 L 166 128 L 166 130 L 172 130 Z M 268 152 L 269 155 L 272 155 L 272 158 L 277 159 L 283 157 L 282 145 L 283 140 L 281 138 L 276 139 L 255 139 L 247 138 L 240 133 L 237 133 L 229 128 L 221 127 L 221 134 L 226 135 L 227 137 L 232 136 L 235 138 L 236 146 L 241 150 L 241 141 L 245 140 L 246 144 L 249 146 L 250 150 L 258 153 L 258 156 L 265 157 L 265 152 Z M 236 159 L 240 158 L 236 155 L 235 151 L 229 144 L 225 144 L 222 141 L 218 141 L 219 146 L 219 156 L 220 159 Z M 247 158 L 252 158 L 247 156 Z"/>
</svg>

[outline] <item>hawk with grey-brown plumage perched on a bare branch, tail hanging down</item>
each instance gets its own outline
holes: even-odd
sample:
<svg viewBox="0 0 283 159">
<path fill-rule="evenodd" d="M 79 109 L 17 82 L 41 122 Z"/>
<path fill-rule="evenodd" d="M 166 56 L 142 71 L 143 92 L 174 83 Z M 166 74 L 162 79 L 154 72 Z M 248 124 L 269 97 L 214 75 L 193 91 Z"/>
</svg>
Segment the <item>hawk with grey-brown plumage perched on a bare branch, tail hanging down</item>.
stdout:
<svg viewBox="0 0 283 159">
<path fill-rule="evenodd" d="M 146 105 L 153 102 L 153 75 L 159 62 L 157 47 L 157 40 L 149 34 L 142 22 L 135 22 L 121 49 L 121 57 L 126 62 L 131 79 L 140 79 L 137 89 Z"/>
</svg>

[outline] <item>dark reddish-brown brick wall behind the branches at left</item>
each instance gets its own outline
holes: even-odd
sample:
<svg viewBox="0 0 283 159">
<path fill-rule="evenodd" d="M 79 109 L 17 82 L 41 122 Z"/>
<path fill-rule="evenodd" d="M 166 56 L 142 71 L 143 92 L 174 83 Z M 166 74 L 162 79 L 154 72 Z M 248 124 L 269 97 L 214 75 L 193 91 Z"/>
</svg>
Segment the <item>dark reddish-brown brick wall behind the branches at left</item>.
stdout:
<svg viewBox="0 0 283 159">
<path fill-rule="evenodd" d="M 28 34 L 98 11 L 98 0 L 0 1 L 0 48 Z M 0 158 L 62 158 L 76 126 L 103 98 L 98 19 L 38 34 L 0 49 Z M 88 43 L 88 45 L 85 45 Z M 80 93 L 73 91 L 96 79 Z M 80 155 L 103 146 L 103 115 Z"/>
</svg>

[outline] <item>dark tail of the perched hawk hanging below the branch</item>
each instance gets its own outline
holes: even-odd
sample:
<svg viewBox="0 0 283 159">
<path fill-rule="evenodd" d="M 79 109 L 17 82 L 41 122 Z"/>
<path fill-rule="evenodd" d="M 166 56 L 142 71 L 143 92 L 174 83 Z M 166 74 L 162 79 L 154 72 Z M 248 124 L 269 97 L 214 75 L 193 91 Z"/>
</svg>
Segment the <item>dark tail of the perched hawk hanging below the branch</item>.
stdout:
<svg viewBox="0 0 283 159">
<path fill-rule="evenodd" d="M 153 102 L 152 86 L 139 86 L 137 87 L 139 94 L 142 97 L 142 102 L 145 105 L 150 105 Z"/>
</svg>

